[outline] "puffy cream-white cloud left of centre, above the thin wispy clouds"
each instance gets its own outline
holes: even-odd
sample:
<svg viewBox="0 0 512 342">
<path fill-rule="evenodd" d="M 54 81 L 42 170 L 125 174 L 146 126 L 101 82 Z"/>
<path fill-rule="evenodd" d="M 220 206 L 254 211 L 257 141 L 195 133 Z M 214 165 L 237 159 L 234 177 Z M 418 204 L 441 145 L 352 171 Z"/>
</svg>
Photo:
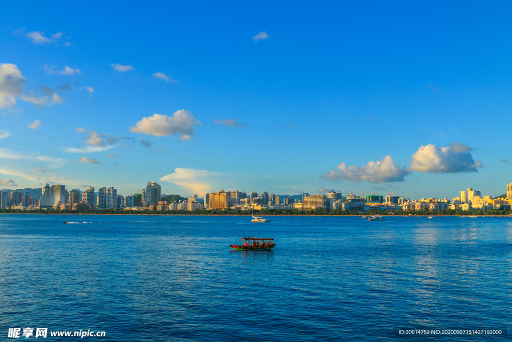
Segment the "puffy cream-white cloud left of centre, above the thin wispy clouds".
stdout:
<svg viewBox="0 0 512 342">
<path fill-rule="evenodd" d="M 190 137 L 195 134 L 194 120 L 195 116 L 192 113 L 182 109 L 173 116 L 153 114 L 150 117 L 143 117 L 135 127 L 130 127 L 130 131 L 156 136 L 181 134 L 182 137 Z"/>
</svg>

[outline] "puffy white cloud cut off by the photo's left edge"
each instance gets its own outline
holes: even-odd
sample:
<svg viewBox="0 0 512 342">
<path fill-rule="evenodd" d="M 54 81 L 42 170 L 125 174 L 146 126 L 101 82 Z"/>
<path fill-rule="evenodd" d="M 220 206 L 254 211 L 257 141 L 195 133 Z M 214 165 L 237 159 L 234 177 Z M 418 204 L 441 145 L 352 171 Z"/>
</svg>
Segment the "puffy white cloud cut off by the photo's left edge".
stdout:
<svg viewBox="0 0 512 342">
<path fill-rule="evenodd" d="M 16 96 L 23 94 L 27 79 L 14 64 L 0 64 L 0 108 L 16 105 Z"/>
</svg>

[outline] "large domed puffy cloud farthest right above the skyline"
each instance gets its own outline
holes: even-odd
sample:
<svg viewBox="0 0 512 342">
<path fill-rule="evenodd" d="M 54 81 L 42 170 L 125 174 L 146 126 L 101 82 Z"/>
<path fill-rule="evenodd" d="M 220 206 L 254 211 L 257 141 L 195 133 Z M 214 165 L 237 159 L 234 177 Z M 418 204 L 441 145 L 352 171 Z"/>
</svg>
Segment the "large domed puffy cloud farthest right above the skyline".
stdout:
<svg viewBox="0 0 512 342">
<path fill-rule="evenodd" d="M 433 144 L 421 145 L 411 158 L 409 170 L 429 173 L 478 172 L 483 165 L 480 160 L 475 162 L 470 151 L 470 147 L 461 143 L 442 148 Z"/>
</svg>

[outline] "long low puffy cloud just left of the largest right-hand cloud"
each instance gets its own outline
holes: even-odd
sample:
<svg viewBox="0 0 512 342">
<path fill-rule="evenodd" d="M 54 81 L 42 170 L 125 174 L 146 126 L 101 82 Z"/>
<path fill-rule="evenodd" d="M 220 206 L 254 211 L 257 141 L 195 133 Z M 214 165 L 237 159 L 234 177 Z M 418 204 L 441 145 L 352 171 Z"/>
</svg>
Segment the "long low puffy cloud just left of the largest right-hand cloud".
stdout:
<svg viewBox="0 0 512 342">
<path fill-rule="evenodd" d="M 361 180 L 368 180 L 370 183 L 403 182 L 403 177 L 409 174 L 408 171 L 395 164 L 390 155 L 385 156 L 377 162 L 369 162 L 362 167 L 348 166 L 346 163 L 339 164 L 336 169 L 324 175 L 327 179 L 347 179 L 354 183 Z"/>
</svg>

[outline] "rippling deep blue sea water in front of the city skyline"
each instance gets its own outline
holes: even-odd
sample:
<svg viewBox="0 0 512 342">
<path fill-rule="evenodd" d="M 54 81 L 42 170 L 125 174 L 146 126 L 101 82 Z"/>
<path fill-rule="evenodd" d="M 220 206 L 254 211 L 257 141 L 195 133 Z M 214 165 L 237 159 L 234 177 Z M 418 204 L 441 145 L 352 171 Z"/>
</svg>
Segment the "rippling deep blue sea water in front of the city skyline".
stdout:
<svg viewBox="0 0 512 342">
<path fill-rule="evenodd" d="M 0 215 L 0 340 L 27 327 L 47 328 L 50 341 L 512 336 L 396 333 L 506 331 L 512 218 L 268 218 Z M 231 250 L 241 237 L 276 246 Z M 105 336 L 50 336 L 89 330 Z"/>
</svg>

